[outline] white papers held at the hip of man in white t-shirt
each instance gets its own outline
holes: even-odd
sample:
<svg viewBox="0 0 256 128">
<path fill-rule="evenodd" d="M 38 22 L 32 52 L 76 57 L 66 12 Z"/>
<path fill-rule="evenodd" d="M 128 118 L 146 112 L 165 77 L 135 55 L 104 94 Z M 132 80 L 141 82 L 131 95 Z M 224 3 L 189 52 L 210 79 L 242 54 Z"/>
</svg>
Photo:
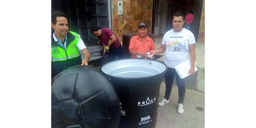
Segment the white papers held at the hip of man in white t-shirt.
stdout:
<svg viewBox="0 0 256 128">
<path fill-rule="evenodd" d="M 188 59 L 179 63 L 177 66 L 174 67 L 181 79 L 190 75 L 190 73 L 188 74 L 188 70 L 191 68 L 190 64 L 191 64 L 191 61 L 190 59 Z M 196 71 L 197 71 L 197 68 L 195 66 L 195 72 Z"/>
</svg>

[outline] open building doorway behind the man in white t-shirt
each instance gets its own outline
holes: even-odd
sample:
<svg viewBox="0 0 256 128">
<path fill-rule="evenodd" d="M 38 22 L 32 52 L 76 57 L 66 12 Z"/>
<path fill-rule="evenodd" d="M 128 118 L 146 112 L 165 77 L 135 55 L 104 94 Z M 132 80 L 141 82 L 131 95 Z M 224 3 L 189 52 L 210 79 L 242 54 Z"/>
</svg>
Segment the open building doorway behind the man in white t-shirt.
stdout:
<svg viewBox="0 0 256 128">
<path fill-rule="evenodd" d="M 158 22 L 159 25 L 155 26 L 152 24 L 152 33 L 155 35 L 164 35 L 165 32 L 172 29 L 172 16 L 175 12 L 181 12 L 185 16 L 188 14 L 188 10 L 192 9 L 194 12 L 194 20 L 193 20 L 193 30 L 192 33 L 195 36 L 196 42 L 198 38 L 199 28 L 200 28 L 200 20 L 201 20 L 201 14 L 202 14 L 202 8 L 203 8 L 203 1 L 204 0 L 191 0 L 186 1 L 185 3 L 182 1 L 172 1 L 172 0 L 153 0 L 153 8 L 156 8 L 156 4 L 159 5 L 159 15 L 158 15 Z M 158 12 L 155 12 L 154 10 L 152 12 L 152 21 L 155 21 L 155 14 Z M 155 23 L 155 22 L 154 22 Z M 153 27 L 154 26 L 154 27 Z"/>
</svg>

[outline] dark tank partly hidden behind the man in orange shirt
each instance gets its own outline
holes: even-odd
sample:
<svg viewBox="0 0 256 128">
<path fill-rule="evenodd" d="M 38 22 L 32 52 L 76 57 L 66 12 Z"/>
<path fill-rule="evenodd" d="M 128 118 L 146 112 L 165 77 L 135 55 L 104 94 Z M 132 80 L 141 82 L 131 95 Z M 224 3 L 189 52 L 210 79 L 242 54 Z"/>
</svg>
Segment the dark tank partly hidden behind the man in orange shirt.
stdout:
<svg viewBox="0 0 256 128">
<path fill-rule="evenodd" d="M 124 58 L 131 58 L 132 54 L 130 54 L 129 52 L 129 45 L 130 45 L 130 40 L 133 36 L 138 35 L 138 33 L 127 33 L 127 34 L 123 34 L 123 49 L 124 49 Z M 149 36 L 150 38 L 152 38 L 152 40 L 155 42 L 155 38 L 154 38 L 154 34 L 151 33 L 147 33 L 147 36 Z M 153 60 L 154 60 L 154 56 L 153 56 Z"/>
</svg>

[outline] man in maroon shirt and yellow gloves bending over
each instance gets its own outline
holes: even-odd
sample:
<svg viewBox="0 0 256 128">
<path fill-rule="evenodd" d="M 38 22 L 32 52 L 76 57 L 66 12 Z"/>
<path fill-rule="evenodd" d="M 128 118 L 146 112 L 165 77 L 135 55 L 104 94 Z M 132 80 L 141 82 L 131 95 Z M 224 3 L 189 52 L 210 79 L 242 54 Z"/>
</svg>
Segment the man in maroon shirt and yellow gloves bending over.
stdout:
<svg viewBox="0 0 256 128">
<path fill-rule="evenodd" d="M 116 56 L 118 59 L 123 58 L 124 52 L 121 42 L 109 28 L 92 27 L 91 32 L 102 42 L 104 53 L 108 50 L 109 61 L 115 60 Z M 109 42 L 110 39 L 111 41 Z"/>
</svg>

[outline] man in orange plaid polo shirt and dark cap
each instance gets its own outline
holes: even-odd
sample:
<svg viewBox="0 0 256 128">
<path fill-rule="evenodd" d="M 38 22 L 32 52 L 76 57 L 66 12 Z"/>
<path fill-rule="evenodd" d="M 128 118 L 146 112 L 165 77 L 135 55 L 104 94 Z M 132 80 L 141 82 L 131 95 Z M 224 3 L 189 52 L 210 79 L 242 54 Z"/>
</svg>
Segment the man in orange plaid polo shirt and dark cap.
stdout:
<svg viewBox="0 0 256 128">
<path fill-rule="evenodd" d="M 131 38 L 129 51 L 132 58 L 148 58 L 147 52 L 156 49 L 154 41 L 147 36 L 147 30 L 147 25 L 140 23 L 138 26 L 139 34 Z M 148 59 L 152 59 L 152 57 Z"/>
</svg>

